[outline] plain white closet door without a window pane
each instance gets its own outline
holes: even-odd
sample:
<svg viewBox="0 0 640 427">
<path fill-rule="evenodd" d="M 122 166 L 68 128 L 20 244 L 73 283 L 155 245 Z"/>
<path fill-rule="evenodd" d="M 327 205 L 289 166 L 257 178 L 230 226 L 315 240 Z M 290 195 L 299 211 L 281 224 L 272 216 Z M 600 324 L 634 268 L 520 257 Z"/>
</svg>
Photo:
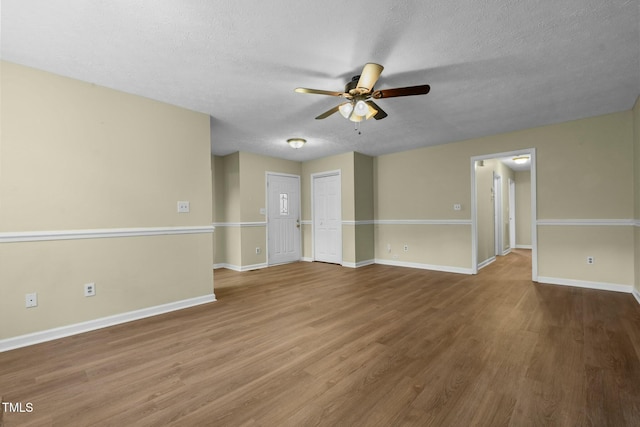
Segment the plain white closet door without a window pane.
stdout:
<svg viewBox="0 0 640 427">
<path fill-rule="evenodd" d="M 342 264 L 340 172 L 313 176 L 313 257 Z"/>
</svg>

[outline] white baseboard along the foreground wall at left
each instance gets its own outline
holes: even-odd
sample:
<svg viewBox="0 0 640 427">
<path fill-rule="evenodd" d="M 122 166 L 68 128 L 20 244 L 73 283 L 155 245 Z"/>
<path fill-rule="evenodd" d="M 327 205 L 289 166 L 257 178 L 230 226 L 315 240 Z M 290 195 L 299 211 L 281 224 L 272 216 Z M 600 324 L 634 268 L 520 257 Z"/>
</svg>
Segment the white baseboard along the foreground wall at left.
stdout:
<svg viewBox="0 0 640 427">
<path fill-rule="evenodd" d="M 58 338 L 94 331 L 96 329 L 107 328 L 109 326 L 119 325 L 133 320 L 140 320 L 145 317 L 157 316 L 158 314 L 168 313 L 170 311 L 207 304 L 214 301 L 216 301 L 215 294 L 203 295 L 201 297 L 170 302 L 168 304 L 142 308 L 140 310 L 129 311 L 127 313 L 114 314 L 113 316 L 101 317 L 99 319 L 88 320 L 86 322 L 75 323 L 73 325 L 61 326 L 59 328 L 47 329 L 45 331 L 7 338 L 0 340 L 0 353 Z"/>
</svg>

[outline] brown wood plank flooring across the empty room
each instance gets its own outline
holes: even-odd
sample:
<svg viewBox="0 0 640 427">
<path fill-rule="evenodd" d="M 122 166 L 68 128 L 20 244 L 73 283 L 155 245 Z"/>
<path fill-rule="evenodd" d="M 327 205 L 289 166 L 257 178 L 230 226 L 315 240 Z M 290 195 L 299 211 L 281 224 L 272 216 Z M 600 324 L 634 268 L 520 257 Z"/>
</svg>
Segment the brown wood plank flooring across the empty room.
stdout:
<svg viewBox="0 0 640 427">
<path fill-rule="evenodd" d="M 638 426 L 640 305 L 531 282 L 295 263 L 218 302 L 0 353 L 5 426 Z"/>
</svg>

